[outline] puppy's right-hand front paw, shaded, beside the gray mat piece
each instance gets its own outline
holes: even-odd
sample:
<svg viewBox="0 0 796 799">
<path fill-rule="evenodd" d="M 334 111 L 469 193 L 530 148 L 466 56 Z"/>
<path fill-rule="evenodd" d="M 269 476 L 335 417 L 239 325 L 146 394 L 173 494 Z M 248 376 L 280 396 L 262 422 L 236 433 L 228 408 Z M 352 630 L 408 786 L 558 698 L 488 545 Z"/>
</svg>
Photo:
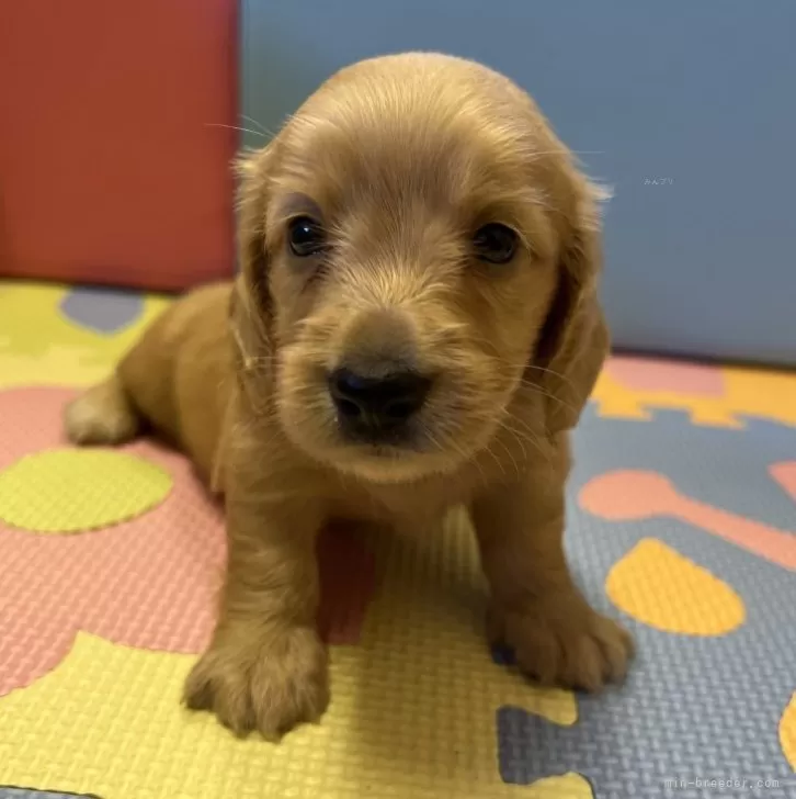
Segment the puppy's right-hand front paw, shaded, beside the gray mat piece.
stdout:
<svg viewBox="0 0 796 799">
<path fill-rule="evenodd" d="M 542 685 L 588 691 L 621 680 L 634 650 L 618 622 L 569 595 L 509 611 L 492 608 L 490 635 L 509 644 L 520 668 Z"/>
</svg>

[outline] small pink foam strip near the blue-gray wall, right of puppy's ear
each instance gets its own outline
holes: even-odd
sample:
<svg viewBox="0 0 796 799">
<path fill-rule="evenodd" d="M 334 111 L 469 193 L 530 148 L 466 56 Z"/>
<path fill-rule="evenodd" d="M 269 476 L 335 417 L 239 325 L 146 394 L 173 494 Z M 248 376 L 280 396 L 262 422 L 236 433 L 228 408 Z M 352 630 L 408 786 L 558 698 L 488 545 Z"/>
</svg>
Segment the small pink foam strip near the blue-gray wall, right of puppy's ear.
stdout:
<svg viewBox="0 0 796 799">
<path fill-rule="evenodd" d="M 725 379 L 719 367 L 614 356 L 605 369 L 614 380 L 632 391 L 675 392 L 705 397 L 721 397 L 725 393 Z"/>
</svg>

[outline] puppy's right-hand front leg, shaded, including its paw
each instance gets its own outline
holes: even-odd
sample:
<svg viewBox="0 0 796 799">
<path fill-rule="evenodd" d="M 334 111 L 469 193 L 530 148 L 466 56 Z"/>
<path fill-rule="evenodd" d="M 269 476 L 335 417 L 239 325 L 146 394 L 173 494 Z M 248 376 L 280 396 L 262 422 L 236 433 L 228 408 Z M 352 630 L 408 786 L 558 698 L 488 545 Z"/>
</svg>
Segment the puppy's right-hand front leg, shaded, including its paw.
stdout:
<svg viewBox="0 0 796 799">
<path fill-rule="evenodd" d="M 544 685 L 596 690 L 624 676 L 629 634 L 593 610 L 566 563 L 564 477 L 539 471 L 473 504 L 491 587 L 489 634 Z"/>
</svg>

